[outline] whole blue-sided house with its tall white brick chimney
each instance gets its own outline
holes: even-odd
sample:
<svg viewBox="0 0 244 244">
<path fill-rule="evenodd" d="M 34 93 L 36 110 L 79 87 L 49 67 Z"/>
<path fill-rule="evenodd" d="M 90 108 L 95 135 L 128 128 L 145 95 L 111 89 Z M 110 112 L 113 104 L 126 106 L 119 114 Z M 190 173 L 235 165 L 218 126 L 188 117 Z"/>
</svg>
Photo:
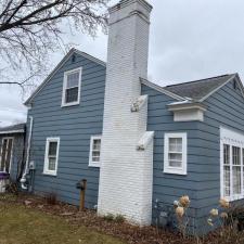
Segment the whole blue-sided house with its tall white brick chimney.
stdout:
<svg viewBox="0 0 244 244">
<path fill-rule="evenodd" d="M 87 207 L 139 224 L 187 194 L 202 233 L 220 197 L 244 197 L 244 89 L 237 74 L 147 81 L 151 10 L 144 0 L 111 8 L 107 63 L 73 49 L 26 101 L 33 188 L 78 205 L 87 179 Z"/>
</svg>

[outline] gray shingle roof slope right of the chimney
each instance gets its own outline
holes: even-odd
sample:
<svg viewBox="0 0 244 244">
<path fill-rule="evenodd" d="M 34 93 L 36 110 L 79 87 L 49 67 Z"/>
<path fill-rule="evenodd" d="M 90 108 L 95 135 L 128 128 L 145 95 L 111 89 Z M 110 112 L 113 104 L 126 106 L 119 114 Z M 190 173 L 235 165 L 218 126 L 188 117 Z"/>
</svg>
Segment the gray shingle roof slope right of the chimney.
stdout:
<svg viewBox="0 0 244 244">
<path fill-rule="evenodd" d="M 200 101 L 214 90 L 221 87 L 223 84 L 228 82 L 228 80 L 234 78 L 234 76 L 235 74 L 217 76 L 207 79 L 171 85 L 164 87 L 164 89 L 182 98 L 190 98 Z"/>
</svg>

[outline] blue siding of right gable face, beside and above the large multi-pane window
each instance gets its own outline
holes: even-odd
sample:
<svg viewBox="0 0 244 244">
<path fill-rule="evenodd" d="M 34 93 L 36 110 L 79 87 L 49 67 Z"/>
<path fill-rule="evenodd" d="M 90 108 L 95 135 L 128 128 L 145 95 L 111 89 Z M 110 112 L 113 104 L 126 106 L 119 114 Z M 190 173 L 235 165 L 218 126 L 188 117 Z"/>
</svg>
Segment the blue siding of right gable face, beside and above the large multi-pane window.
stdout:
<svg viewBox="0 0 244 244">
<path fill-rule="evenodd" d="M 233 81 L 229 82 L 205 101 L 207 112 L 204 123 L 200 124 L 198 132 L 203 140 L 203 150 L 206 150 L 204 164 L 211 176 L 207 181 L 207 189 L 200 189 L 197 197 L 202 208 L 197 210 L 197 228 L 205 232 L 203 223 L 211 208 L 217 207 L 220 198 L 220 126 L 244 133 L 244 99 Z M 205 180 L 203 178 L 202 182 Z M 236 203 L 239 204 L 239 203 Z"/>
</svg>

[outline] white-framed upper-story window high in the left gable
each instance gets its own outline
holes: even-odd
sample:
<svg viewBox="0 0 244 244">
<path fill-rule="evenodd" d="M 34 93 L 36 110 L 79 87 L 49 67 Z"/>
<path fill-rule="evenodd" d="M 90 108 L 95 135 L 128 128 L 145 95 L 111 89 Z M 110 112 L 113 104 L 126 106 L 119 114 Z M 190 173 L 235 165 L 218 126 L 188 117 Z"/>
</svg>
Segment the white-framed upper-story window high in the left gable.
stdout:
<svg viewBox="0 0 244 244">
<path fill-rule="evenodd" d="M 81 67 L 64 73 L 62 106 L 79 104 L 81 87 Z"/>
</svg>

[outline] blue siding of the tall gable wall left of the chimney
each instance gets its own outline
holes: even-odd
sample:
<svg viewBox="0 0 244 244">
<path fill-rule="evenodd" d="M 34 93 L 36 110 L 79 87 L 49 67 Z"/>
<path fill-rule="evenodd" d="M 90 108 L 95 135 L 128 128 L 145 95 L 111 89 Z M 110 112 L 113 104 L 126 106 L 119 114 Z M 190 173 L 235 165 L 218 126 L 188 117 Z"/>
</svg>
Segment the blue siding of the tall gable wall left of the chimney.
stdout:
<svg viewBox="0 0 244 244">
<path fill-rule="evenodd" d="M 80 104 L 61 107 L 64 72 L 82 67 Z M 76 54 L 67 60 L 33 100 L 30 160 L 37 165 L 34 190 L 55 193 L 61 201 L 78 205 L 76 183 L 87 179 L 86 206 L 98 204 L 99 168 L 89 167 L 90 137 L 102 134 L 105 67 Z M 28 125 L 29 126 L 29 125 Z M 43 175 L 46 139 L 60 137 L 57 176 Z"/>
</svg>

